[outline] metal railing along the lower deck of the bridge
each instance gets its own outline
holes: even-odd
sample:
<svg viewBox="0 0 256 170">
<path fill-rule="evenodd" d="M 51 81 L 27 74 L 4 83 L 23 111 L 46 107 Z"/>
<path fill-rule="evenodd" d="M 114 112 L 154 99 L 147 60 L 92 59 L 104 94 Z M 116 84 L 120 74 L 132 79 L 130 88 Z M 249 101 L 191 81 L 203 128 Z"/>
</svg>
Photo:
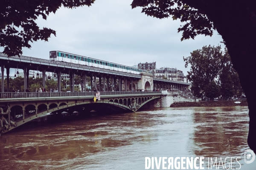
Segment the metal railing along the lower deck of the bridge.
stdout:
<svg viewBox="0 0 256 170">
<path fill-rule="evenodd" d="M 0 93 L 1 99 L 15 98 L 39 98 L 39 97 L 68 97 L 68 96 L 95 96 L 97 92 L 20 92 L 20 93 Z M 161 94 L 161 91 L 101 91 L 100 95 L 127 95 L 127 94 Z"/>
</svg>

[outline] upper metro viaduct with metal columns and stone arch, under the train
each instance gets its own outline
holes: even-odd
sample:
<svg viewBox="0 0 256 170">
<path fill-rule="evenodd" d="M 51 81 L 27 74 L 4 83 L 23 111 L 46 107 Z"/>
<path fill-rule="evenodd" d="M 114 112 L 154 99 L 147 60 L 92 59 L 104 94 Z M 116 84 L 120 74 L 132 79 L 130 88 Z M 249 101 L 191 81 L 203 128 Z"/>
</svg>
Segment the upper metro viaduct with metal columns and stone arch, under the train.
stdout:
<svg viewBox="0 0 256 170">
<path fill-rule="evenodd" d="M 160 79 L 153 77 L 152 74 L 142 72 L 141 74 L 132 74 L 105 68 L 97 68 L 87 65 L 74 64 L 69 62 L 54 61 L 49 59 L 40 59 L 26 56 L 7 57 L 6 54 L 0 53 L 1 73 L 4 79 L 4 71 L 6 68 L 7 75 L 7 89 L 9 92 L 9 72 L 10 68 L 23 69 L 24 73 L 24 87 L 29 85 L 29 70 L 41 71 L 43 75 L 43 87 L 45 87 L 46 71 L 57 74 L 58 90 L 61 91 L 61 73 L 70 75 L 71 91 L 74 92 L 74 77 L 79 75 L 81 77 L 81 87 L 86 85 L 86 77 L 90 77 L 91 89 L 96 88 L 96 78 L 99 78 L 99 91 L 138 91 L 145 89 L 152 90 L 187 90 L 189 83 L 180 82 L 168 79 Z M 94 83 L 93 83 L 94 80 Z M 106 82 L 106 83 L 103 83 Z M 115 83 L 117 82 L 117 83 Z M 116 87 L 118 84 L 118 87 Z M 83 91 L 83 89 L 82 89 Z M 2 92 L 4 90 L 4 82 L 2 81 Z M 25 88 L 24 88 L 25 92 Z"/>
</svg>

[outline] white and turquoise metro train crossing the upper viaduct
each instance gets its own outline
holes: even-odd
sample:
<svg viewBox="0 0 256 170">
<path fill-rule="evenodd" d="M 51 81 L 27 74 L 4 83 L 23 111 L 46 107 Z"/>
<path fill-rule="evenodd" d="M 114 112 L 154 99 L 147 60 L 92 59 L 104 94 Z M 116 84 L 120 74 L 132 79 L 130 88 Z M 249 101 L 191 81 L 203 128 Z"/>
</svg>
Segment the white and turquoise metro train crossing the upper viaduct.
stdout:
<svg viewBox="0 0 256 170">
<path fill-rule="evenodd" d="M 72 62 L 75 64 L 88 65 L 88 66 L 122 71 L 122 72 L 133 73 L 133 74 L 140 74 L 141 72 L 151 73 L 151 71 L 145 71 L 138 68 L 119 65 L 113 62 L 107 62 L 99 59 L 79 56 L 76 54 L 70 54 L 63 51 L 50 51 L 50 60 Z"/>
</svg>

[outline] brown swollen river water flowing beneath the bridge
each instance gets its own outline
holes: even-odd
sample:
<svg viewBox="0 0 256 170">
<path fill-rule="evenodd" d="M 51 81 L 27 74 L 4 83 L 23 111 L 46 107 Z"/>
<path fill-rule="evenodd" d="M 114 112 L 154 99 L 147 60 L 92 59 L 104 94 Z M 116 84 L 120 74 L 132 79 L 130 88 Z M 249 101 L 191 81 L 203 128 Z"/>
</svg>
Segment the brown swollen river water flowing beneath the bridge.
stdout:
<svg viewBox="0 0 256 170">
<path fill-rule="evenodd" d="M 0 170 L 140 170 L 145 157 L 196 156 L 204 169 L 208 157 L 233 156 L 255 170 L 256 161 L 244 163 L 248 122 L 243 106 L 50 114 L 0 136 Z"/>
</svg>

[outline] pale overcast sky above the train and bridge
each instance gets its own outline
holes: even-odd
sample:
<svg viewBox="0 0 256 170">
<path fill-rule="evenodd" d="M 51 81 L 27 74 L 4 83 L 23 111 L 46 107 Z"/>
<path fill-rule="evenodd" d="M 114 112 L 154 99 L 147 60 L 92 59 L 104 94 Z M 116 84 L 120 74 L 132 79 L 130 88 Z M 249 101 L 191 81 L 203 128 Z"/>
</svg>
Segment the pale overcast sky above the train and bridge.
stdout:
<svg viewBox="0 0 256 170">
<path fill-rule="evenodd" d="M 31 49 L 23 48 L 23 55 L 49 59 L 49 51 L 58 50 L 128 66 L 155 61 L 157 68 L 177 68 L 186 75 L 189 68 L 183 56 L 204 45 L 224 46 L 216 31 L 212 37 L 200 35 L 181 42 L 177 28 L 183 23 L 148 17 L 141 8 L 131 9 L 131 2 L 96 0 L 90 7 L 61 8 L 47 20 L 40 18 L 38 26 L 52 28 L 56 37 L 31 43 Z"/>
</svg>

